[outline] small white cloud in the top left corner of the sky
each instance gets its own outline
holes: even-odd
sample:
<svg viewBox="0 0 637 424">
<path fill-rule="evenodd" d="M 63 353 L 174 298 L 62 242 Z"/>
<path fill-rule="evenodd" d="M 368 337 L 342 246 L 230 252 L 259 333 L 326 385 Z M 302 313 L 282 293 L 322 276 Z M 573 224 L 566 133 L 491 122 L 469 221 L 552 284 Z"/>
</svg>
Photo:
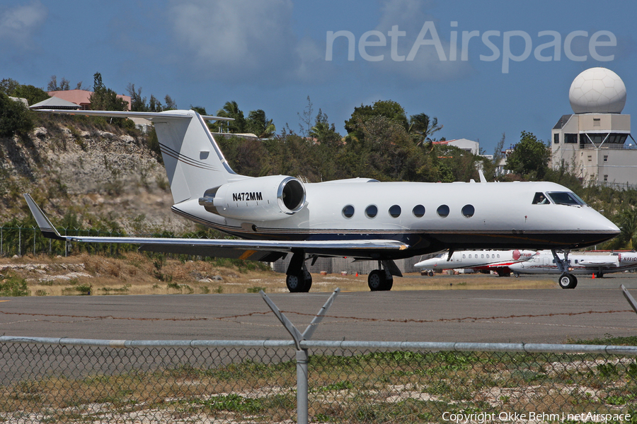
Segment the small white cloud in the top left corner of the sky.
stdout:
<svg viewBox="0 0 637 424">
<path fill-rule="evenodd" d="M 33 48 L 33 35 L 45 23 L 48 13 L 46 6 L 40 1 L 0 11 L 1 44 L 22 49 Z"/>
</svg>

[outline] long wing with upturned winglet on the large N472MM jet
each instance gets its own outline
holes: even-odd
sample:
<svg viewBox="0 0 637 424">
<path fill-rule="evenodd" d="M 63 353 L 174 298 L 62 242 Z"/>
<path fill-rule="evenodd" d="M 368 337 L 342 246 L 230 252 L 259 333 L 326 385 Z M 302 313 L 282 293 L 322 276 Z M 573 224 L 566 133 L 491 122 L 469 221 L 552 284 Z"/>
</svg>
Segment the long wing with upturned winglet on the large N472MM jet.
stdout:
<svg viewBox="0 0 637 424">
<path fill-rule="evenodd" d="M 193 254 L 209 257 L 224 257 L 234 259 L 250 259 L 253 261 L 275 261 L 285 254 L 297 249 L 303 249 L 309 254 L 321 256 L 367 257 L 368 251 L 404 250 L 408 248 L 403 242 L 396 240 L 225 240 L 225 239 L 190 239 L 190 238 L 161 238 L 161 237 L 91 237 L 76 235 L 60 235 L 51 221 L 33 201 L 29 194 L 24 194 L 38 227 L 45 237 L 69 242 L 89 243 L 125 243 L 139 245 L 139 249 L 146 252 L 163 252 L 175 254 Z"/>
</svg>

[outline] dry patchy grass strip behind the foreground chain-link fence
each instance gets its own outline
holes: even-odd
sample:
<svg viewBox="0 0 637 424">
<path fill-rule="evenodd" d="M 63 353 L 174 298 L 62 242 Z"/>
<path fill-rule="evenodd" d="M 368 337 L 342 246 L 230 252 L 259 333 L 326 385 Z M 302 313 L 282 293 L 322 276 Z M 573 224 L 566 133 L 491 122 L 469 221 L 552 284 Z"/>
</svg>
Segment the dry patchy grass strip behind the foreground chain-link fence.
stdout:
<svg viewBox="0 0 637 424">
<path fill-rule="evenodd" d="M 226 354 L 239 354 L 234 350 L 203 353 L 222 362 L 230 359 Z M 637 416 L 635 358 L 551 353 L 340 353 L 310 355 L 312 422 L 442 423 L 445 411 L 496 416 L 502 411 Z M 257 423 L 294 420 L 294 360 L 285 360 L 285 355 L 277 353 L 268 364 L 246 359 L 195 366 L 188 363 L 190 355 L 185 354 L 186 363 L 172 367 L 108 375 L 86 371 L 88 375 L 77 379 L 54 371 L 40 379 L 7 384 L 0 387 L 0 420 L 12 420 L 25 412 L 43 413 L 43 419 L 50 422 L 100 421 L 106 416 L 117 421 L 142 420 L 144 416 Z"/>
</svg>

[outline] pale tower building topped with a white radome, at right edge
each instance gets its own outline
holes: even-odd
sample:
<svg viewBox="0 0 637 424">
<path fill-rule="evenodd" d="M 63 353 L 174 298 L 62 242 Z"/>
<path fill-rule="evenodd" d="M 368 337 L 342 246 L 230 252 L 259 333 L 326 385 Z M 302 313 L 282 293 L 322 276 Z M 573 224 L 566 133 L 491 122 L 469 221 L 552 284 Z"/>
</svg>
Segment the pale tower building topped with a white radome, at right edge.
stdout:
<svg viewBox="0 0 637 424">
<path fill-rule="evenodd" d="M 568 98 L 575 113 L 563 115 L 551 131 L 553 169 L 568 166 L 583 182 L 637 187 L 637 143 L 631 116 L 621 114 L 621 78 L 609 69 L 587 69 L 571 84 Z"/>
</svg>

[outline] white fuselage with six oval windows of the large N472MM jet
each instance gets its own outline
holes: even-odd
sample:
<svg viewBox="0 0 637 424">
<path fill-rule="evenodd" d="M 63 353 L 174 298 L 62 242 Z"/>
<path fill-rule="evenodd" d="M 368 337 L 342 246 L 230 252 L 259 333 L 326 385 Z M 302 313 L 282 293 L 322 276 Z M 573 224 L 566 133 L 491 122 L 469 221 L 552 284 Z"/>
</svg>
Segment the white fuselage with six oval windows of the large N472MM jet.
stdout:
<svg viewBox="0 0 637 424">
<path fill-rule="evenodd" d="M 616 225 L 587 205 L 532 204 L 537 192 L 568 192 L 566 187 L 551 182 L 422 183 L 356 179 L 304 184 L 304 187 L 304 208 L 293 215 L 281 213 L 278 220 L 224 218 L 206 211 L 197 199 L 175 204 L 173 211 L 248 239 L 389 239 L 410 246 L 395 257 L 449 248 L 583 247 L 608 240 L 619 232 Z M 236 211 L 241 204 L 251 207 L 250 201 L 228 206 Z M 375 216 L 366 213 L 369 206 L 376 208 Z M 423 207 L 424 214 L 420 216 L 418 212 Z M 442 212 L 446 209 L 445 216 Z"/>
</svg>

